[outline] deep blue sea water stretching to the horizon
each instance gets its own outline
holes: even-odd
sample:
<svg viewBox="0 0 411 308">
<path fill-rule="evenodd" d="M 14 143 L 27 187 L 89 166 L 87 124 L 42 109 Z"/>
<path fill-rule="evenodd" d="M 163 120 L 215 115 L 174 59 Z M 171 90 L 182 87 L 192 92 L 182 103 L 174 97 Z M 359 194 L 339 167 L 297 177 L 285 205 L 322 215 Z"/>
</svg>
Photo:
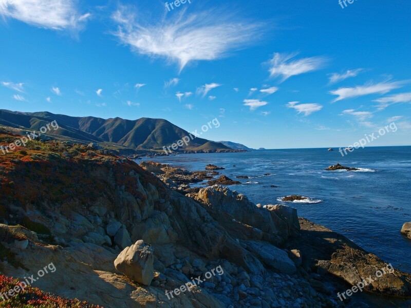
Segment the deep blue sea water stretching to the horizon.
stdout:
<svg viewBox="0 0 411 308">
<path fill-rule="evenodd" d="M 411 273 L 411 240 L 400 234 L 403 223 L 411 221 L 410 146 L 359 148 L 345 157 L 338 149 L 315 148 L 144 160 L 193 171 L 204 170 L 212 163 L 225 167 L 219 171 L 229 178 L 249 176 L 250 179 L 236 179 L 242 184 L 230 189 L 245 194 L 254 203 L 293 206 L 298 216 L 343 234 L 385 262 Z M 337 163 L 361 170 L 324 170 Z M 272 175 L 264 176 L 268 173 Z M 309 197 L 311 203 L 279 201 L 288 195 Z"/>
</svg>

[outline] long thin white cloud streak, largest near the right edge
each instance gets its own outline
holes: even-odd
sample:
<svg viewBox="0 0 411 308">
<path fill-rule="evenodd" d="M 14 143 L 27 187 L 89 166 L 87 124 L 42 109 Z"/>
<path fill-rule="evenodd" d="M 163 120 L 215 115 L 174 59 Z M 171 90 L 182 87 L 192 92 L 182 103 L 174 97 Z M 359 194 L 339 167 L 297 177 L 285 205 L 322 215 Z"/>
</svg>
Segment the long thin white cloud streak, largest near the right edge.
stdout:
<svg viewBox="0 0 411 308">
<path fill-rule="evenodd" d="M 380 82 L 378 84 L 368 83 L 364 86 L 357 86 L 353 88 L 339 88 L 337 90 L 332 90 L 329 93 L 332 95 L 338 95 L 338 98 L 333 102 L 338 102 L 341 100 L 351 99 L 369 94 L 385 94 L 391 90 L 401 88 L 405 82 Z"/>
</svg>

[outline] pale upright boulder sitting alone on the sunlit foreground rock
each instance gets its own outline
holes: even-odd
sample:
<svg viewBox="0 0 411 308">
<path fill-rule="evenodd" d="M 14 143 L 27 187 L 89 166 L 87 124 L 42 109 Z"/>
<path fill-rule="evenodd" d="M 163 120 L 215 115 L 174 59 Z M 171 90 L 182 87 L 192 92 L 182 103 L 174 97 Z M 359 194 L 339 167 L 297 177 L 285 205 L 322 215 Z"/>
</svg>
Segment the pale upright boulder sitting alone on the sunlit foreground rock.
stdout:
<svg viewBox="0 0 411 308">
<path fill-rule="evenodd" d="M 117 259 L 114 266 L 129 279 L 141 284 L 150 285 L 154 278 L 154 249 L 143 240 L 126 247 Z"/>
</svg>

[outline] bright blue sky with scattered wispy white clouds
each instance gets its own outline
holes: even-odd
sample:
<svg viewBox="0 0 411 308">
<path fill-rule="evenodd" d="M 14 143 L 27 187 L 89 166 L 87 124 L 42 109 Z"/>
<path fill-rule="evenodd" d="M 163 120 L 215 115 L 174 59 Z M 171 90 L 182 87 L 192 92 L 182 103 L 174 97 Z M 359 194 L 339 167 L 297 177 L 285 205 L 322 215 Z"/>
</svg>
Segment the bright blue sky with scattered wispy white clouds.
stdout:
<svg viewBox="0 0 411 308">
<path fill-rule="evenodd" d="M 217 118 L 202 138 L 252 148 L 345 147 L 395 123 L 367 146 L 411 145 L 410 14 L 409 0 L 0 0 L 0 109 L 188 131 Z"/>
</svg>

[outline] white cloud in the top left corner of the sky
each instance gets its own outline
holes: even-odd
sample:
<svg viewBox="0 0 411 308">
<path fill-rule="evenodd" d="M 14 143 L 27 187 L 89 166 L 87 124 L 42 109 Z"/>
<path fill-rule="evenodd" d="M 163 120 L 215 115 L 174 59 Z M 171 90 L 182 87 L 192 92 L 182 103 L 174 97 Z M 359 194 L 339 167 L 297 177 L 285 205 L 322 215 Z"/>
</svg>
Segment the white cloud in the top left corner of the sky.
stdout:
<svg viewBox="0 0 411 308">
<path fill-rule="evenodd" d="M 0 0 L 0 15 L 46 29 L 80 29 L 90 16 L 74 0 Z"/>
</svg>

